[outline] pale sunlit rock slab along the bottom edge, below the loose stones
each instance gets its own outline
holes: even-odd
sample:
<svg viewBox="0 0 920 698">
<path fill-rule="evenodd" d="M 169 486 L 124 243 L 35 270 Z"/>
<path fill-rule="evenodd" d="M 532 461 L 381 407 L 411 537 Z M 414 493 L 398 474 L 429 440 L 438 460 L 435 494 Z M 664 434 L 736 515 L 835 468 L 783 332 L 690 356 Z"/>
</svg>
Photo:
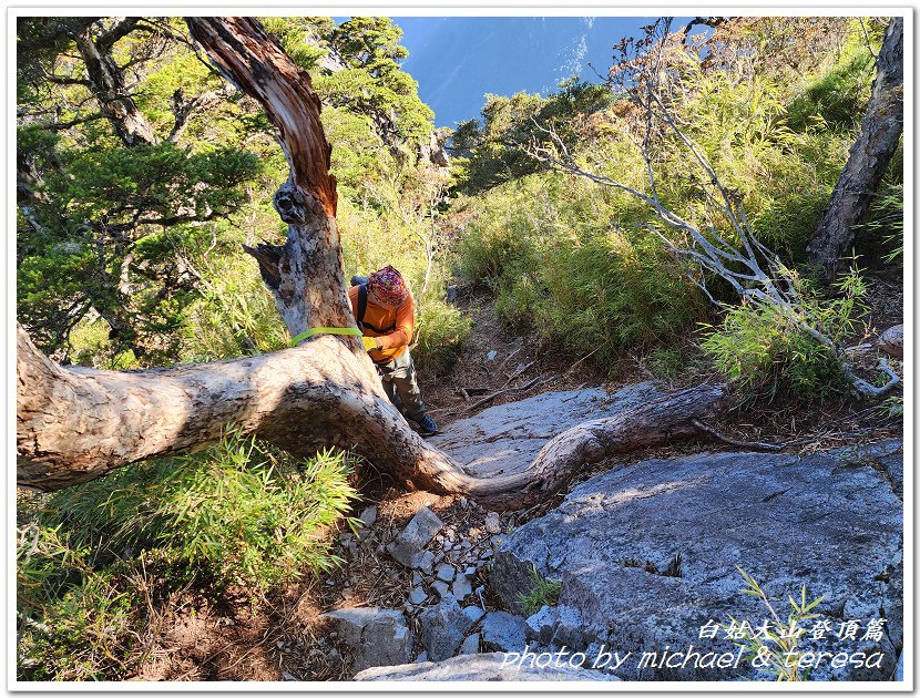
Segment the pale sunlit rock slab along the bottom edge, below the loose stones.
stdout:
<svg viewBox="0 0 920 698">
<path fill-rule="evenodd" d="M 365 669 L 356 681 L 616 681 L 601 671 L 569 667 L 539 668 L 507 663 L 503 653 L 459 655 L 443 661 Z"/>
</svg>

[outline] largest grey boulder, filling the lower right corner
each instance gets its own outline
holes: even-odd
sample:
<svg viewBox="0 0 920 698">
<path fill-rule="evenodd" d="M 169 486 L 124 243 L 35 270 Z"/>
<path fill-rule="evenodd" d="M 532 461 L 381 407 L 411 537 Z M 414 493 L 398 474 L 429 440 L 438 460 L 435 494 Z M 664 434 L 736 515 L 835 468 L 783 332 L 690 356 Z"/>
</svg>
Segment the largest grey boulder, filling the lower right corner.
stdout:
<svg viewBox="0 0 920 698">
<path fill-rule="evenodd" d="M 812 679 L 887 680 L 903 643 L 900 450 L 890 441 L 805 456 L 704 453 L 626 465 L 582 483 L 558 509 L 510 534 L 490 585 L 520 612 L 534 568 L 561 581 L 560 606 L 532 618 L 529 637 L 632 651 L 617 670 L 624 678 L 763 678 L 746 660 L 722 669 L 696 659 L 668 667 L 650 658 L 640 666 L 644 653 L 661 659 L 689 645 L 735 650 L 724 629 L 732 617 L 763 626 L 769 612 L 742 594 L 740 567 L 784 618 L 788 596 L 800 598 L 803 585 L 809 601 L 824 597 L 819 618 L 804 624 L 801 647 L 846 651 L 848 661 L 814 657 Z M 583 619 L 580 632 L 566 622 L 572 617 Z M 880 618 L 881 638 L 863 639 Z M 822 638 L 812 629 L 819 620 L 829 625 Z M 848 620 L 859 624 L 855 639 L 841 627 Z M 723 629 L 709 637 L 716 624 Z M 876 658 L 857 666 L 858 651 Z"/>
</svg>

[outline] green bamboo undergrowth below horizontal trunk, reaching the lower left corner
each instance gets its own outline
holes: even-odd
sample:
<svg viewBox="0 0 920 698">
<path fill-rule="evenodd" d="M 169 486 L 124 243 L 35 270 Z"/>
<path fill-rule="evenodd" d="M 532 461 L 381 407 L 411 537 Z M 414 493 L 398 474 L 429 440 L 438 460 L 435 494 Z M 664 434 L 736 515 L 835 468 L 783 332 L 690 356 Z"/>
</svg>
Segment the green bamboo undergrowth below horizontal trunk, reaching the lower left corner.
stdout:
<svg viewBox="0 0 920 698">
<path fill-rule="evenodd" d="M 44 496 L 19 527 L 21 677 L 122 678 L 143 659 L 157 597 L 188 584 L 262 593 L 329 568 L 327 532 L 356 497 L 352 464 L 228 431 L 197 453 Z"/>
</svg>

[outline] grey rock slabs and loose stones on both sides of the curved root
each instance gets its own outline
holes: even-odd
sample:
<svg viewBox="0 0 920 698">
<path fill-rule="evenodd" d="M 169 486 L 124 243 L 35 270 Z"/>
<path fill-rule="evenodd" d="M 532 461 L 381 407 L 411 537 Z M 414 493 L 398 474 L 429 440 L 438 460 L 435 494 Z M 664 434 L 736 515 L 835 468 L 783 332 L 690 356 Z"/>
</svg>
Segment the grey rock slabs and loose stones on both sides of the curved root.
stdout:
<svg viewBox="0 0 920 698">
<path fill-rule="evenodd" d="M 507 471 L 569 420 L 628 409 L 657 390 L 544 393 L 458 421 L 437 442 L 476 472 Z M 759 625 L 768 614 L 743 594 L 742 568 L 780 616 L 803 584 L 809 601 L 824 597 L 816 613 L 831 630 L 801 643 L 826 653 L 812 678 L 890 679 L 903 644 L 903 455 L 897 439 L 869 441 L 804 455 L 646 458 L 534 512 L 499 515 L 421 492 L 385 497 L 339 536 L 347 563 L 323 585 L 318 646 L 340 660 L 341 678 L 358 680 L 764 678 L 745 661 L 638 666 L 645 653 L 666 648 L 693 645 L 713 661 L 736 653 L 725 638 L 730 618 Z M 558 596 L 539 604 L 538 594 L 539 607 L 524 610 L 538 578 Z M 701 639 L 707 623 L 722 629 Z M 835 636 L 851 623 L 858 637 Z M 872 623 L 881 635 L 861 640 Z M 525 648 L 586 659 L 502 666 L 512 655 L 493 654 Z M 592 669 L 604 651 L 619 654 Z M 847 660 L 862 653 L 862 666 L 831 666 L 840 653 Z M 304 668 L 286 678 L 310 679 Z"/>
</svg>

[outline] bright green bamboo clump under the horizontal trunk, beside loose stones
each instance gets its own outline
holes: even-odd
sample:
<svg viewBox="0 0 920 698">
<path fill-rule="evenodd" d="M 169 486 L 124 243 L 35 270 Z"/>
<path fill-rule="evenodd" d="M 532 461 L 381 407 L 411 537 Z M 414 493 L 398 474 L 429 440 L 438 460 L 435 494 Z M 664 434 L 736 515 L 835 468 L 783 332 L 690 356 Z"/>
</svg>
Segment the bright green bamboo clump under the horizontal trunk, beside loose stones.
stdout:
<svg viewBox="0 0 920 698">
<path fill-rule="evenodd" d="M 264 588 L 330 566 L 321 534 L 356 496 L 351 463 L 326 451 L 298 462 L 228 431 L 203 451 L 62 490 L 49 506 L 80 548 L 163 548 L 219 584 Z"/>
</svg>

